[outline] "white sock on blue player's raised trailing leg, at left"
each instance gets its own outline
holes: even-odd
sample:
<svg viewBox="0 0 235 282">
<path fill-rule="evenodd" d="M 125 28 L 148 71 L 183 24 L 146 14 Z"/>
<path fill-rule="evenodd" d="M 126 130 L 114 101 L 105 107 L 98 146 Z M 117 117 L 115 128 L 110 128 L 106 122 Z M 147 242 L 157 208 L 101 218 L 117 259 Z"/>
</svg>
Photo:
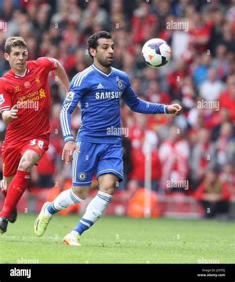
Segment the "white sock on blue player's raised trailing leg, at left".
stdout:
<svg viewBox="0 0 235 282">
<path fill-rule="evenodd" d="M 59 196 L 45 209 L 45 213 L 49 216 L 52 214 L 66 209 L 68 206 L 81 203 L 84 200 L 77 197 L 72 189 L 65 190 L 59 194 Z"/>
</svg>

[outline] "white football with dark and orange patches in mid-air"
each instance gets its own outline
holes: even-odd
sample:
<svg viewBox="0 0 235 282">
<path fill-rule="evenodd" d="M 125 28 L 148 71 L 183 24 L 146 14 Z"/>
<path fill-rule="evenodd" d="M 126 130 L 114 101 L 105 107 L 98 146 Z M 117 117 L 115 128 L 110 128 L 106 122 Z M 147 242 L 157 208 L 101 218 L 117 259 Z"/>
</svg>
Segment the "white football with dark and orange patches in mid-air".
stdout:
<svg viewBox="0 0 235 282">
<path fill-rule="evenodd" d="M 142 49 L 142 57 L 146 65 L 159 68 L 166 65 L 171 59 L 171 48 L 166 41 L 154 38 L 147 41 Z"/>
</svg>

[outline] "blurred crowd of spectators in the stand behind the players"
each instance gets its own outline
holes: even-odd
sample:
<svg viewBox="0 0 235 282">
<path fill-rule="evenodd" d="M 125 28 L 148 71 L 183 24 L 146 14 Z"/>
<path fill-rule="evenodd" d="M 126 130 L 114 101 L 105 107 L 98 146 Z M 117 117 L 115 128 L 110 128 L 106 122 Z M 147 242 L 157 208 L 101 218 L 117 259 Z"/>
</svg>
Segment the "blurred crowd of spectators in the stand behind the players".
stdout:
<svg viewBox="0 0 235 282">
<path fill-rule="evenodd" d="M 151 147 L 154 190 L 190 194 L 197 189 L 201 201 L 208 200 L 205 191 L 216 191 L 220 201 L 235 201 L 235 0 L 0 0 L 0 22 L 7 22 L 7 30 L 0 30 L 0 75 L 9 70 L 3 56 L 8 36 L 26 39 L 29 60 L 58 59 L 71 80 L 92 64 L 88 37 L 106 30 L 115 42 L 113 67 L 129 75 L 138 97 L 182 105 L 178 117 L 143 115 L 121 101 L 128 135 L 123 136 L 124 181 L 117 189 L 133 181 L 144 186 Z M 186 22 L 188 30 L 168 29 L 169 22 Z M 172 59 L 160 69 L 142 60 L 142 46 L 152 38 L 166 40 L 172 49 Z M 61 162 L 59 110 L 65 91 L 53 73 L 49 83 L 51 145 L 32 175 L 32 185 L 39 187 L 57 181 L 62 186 L 71 177 L 71 167 Z M 75 136 L 80 123 L 77 108 Z M 0 121 L 0 141 L 4 132 Z M 171 179 L 188 180 L 188 189 L 169 187 Z"/>
</svg>

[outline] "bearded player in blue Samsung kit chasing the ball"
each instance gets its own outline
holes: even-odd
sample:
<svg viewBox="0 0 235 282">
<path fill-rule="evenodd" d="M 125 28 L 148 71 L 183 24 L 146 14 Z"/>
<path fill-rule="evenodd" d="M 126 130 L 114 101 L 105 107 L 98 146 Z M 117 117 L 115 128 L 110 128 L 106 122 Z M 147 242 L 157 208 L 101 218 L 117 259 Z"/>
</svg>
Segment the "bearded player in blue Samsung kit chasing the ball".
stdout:
<svg viewBox="0 0 235 282">
<path fill-rule="evenodd" d="M 110 33 L 94 33 L 87 47 L 94 64 L 73 77 L 60 111 L 65 141 L 62 160 L 67 164 L 72 161 L 72 187 L 60 193 L 52 203 L 46 202 L 34 224 L 36 235 L 42 236 L 54 213 L 87 198 L 96 173 L 99 182 L 96 197 L 75 228 L 63 238 L 67 245 L 75 246 L 80 246 L 81 234 L 104 213 L 117 183 L 123 179 L 120 99 L 138 113 L 177 116 L 182 113 L 178 104 L 154 104 L 136 96 L 128 75 L 111 67 L 115 45 Z M 78 103 L 82 125 L 74 141 L 70 115 Z"/>
</svg>

